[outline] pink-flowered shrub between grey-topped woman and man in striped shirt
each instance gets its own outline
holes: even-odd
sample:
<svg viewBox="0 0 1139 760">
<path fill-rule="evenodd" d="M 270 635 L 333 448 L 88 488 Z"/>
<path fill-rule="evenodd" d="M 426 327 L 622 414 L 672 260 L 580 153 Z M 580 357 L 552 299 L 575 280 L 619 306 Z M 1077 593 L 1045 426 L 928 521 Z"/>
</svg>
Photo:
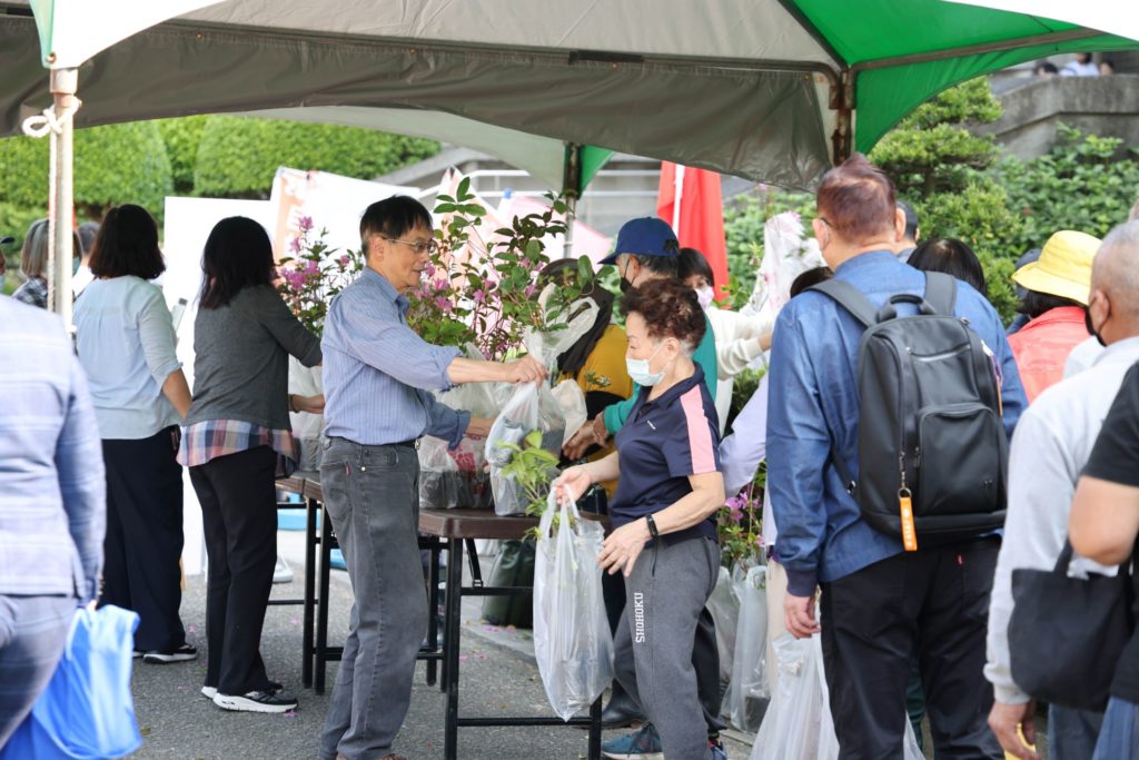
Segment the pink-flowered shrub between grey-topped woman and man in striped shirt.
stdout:
<svg viewBox="0 0 1139 760">
<path fill-rule="evenodd" d="M 296 318 L 320 335 L 333 296 L 363 271 L 363 255 L 347 251 L 337 255 L 325 244 L 328 230 L 313 236 L 311 216 L 300 220 L 301 234 L 289 240 L 289 254 L 277 268 L 277 291 Z"/>
</svg>

